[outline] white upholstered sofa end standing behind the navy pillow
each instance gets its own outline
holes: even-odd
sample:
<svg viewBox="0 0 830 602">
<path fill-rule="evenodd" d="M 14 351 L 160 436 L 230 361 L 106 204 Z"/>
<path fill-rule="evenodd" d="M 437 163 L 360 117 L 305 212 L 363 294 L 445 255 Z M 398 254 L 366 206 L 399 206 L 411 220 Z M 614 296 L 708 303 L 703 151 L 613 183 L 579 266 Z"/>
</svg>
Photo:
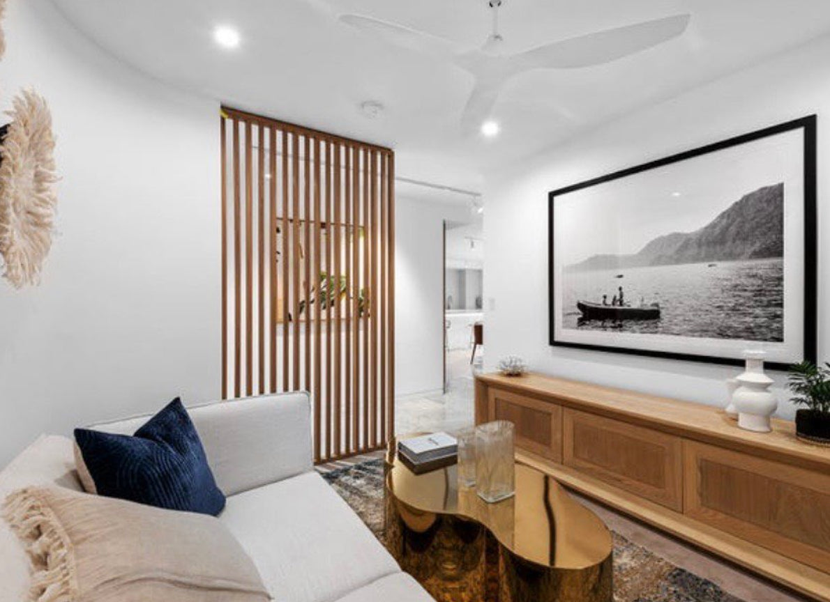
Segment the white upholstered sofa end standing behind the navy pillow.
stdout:
<svg viewBox="0 0 830 602">
<path fill-rule="evenodd" d="M 308 393 L 283 393 L 188 407 L 207 462 L 225 495 L 313 468 Z M 151 415 L 101 422 L 90 429 L 133 435 Z"/>
</svg>

